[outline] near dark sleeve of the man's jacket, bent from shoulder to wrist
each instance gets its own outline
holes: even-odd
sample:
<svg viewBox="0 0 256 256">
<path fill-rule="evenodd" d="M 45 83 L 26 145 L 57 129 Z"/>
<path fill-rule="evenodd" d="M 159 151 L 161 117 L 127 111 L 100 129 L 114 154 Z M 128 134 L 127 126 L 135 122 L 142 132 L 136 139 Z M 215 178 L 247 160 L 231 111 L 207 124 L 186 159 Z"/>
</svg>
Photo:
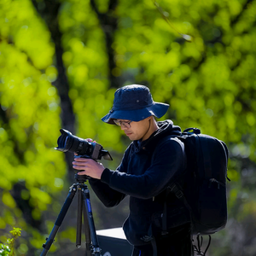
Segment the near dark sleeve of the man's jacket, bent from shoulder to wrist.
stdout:
<svg viewBox="0 0 256 256">
<path fill-rule="evenodd" d="M 168 138 L 157 145 L 148 160 L 151 165 L 141 175 L 106 169 L 102 173 L 102 182 L 123 194 L 142 199 L 152 198 L 165 189 L 177 173 L 183 172 L 186 161 L 183 143 Z"/>
</svg>

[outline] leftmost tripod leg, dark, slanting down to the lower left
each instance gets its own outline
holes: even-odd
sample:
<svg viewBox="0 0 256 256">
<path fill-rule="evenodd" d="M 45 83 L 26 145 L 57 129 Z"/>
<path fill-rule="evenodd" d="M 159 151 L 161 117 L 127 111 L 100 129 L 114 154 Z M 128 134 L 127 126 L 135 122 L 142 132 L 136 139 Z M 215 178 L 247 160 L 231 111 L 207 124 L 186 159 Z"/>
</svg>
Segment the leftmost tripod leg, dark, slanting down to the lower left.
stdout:
<svg viewBox="0 0 256 256">
<path fill-rule="evenodd" d="M 44 243 L 43 247 L 44 250 L 43 252 L 40 254 L 40 256 L 44 256 L 48 253 L 49 248 L 51 247 L 52 243 L 54 242 L 55 236 L 61 226 L 61 223 L 63 221 L 63 219 L 65 218 L 66 214 L 67 214 L 67 210 L 70 207 L 72 201 L 73 201 L 73 197 L 76 194 L 77 188 L 73 185 L 70 189 L 69 189 L 69 193 L 67 195 L 67 199 L 64 202 L 62 208 L 61 208 L 61 212 L 59 213 L 58 218 L 55 221 L 55 225 L 53 227 L 53 229 L 51 230 L 49 237 L 46 238 L 46 242 Z"/>
</svg>

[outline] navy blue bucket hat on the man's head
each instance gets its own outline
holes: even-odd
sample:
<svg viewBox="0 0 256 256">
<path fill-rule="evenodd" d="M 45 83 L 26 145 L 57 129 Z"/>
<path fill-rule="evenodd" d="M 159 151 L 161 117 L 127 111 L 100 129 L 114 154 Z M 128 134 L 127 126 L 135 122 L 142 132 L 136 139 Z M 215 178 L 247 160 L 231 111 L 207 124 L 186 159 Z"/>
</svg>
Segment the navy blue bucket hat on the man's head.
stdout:
<svg viewBox="0 0 256 256">
<path fill-rule="evenodd" d="M 113 119 L 141 121 L 154 115 L 162 117 L 169 105 L 154 102 L 148 87 L 139 84 L 126 85 L 114 93 L 113 108 L 102 121 L 114 125 Z"/>
</svg>

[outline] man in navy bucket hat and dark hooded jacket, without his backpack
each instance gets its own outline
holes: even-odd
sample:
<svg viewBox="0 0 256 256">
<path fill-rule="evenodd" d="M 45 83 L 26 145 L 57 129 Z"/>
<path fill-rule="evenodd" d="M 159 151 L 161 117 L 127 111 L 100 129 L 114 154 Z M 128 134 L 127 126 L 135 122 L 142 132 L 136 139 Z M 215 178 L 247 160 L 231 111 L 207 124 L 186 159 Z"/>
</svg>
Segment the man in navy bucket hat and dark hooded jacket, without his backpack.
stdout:
<svg viewBox="0 0 256 256">
<path fill-rule="evenodd" d="M 163 220 L 166 188 L 185 169 L 186 158 L 171 120 L 156 122 L 169 105 L 154 102 L 143 85 L 116 90 L 113 108 L 102 118 L 119 125 L 132 143 L 119 167 L 109 170 L 91 159 L 76 158 L 73 168 L 92 177 L 90 185 L 106 207 L 114 207 L 130 195 L 130 214 L 123 229 L 134 246 L 133 256 L 193 255 L 189 212 L 176 195 L 168 195 L 167 223 Z M 166 232 L 162 232 L 166 227 Z"/>
</svg>

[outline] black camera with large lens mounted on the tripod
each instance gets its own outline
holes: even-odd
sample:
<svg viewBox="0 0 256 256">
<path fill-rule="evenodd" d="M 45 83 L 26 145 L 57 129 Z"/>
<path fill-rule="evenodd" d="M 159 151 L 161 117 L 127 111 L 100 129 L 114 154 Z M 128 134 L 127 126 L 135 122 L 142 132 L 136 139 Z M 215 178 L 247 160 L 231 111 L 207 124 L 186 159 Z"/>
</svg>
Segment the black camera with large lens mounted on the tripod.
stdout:
<svg viewBox="0 0 256 256">
<path fill-rule="evenodd" d="M 58 147 L 55 148 L 61 152 L 73 152 L 84 158 L 93 160 L 113 160 L 108 150 L 104 150 L 101 144 L 89 143 L 86 140 L 73 136 L 70 131 L 61 129 L 61 136 L 58 138 Z"/>
</svg>

